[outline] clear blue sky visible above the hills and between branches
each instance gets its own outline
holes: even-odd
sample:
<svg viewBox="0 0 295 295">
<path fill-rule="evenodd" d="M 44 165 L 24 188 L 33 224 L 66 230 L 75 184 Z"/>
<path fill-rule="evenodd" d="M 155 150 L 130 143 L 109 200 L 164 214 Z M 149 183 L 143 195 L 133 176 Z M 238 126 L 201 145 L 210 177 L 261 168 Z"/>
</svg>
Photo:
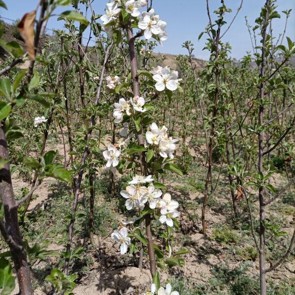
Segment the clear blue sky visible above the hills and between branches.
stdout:
<svg viewBox="0 0 295 295">
<path fill-rule="evenodd" d="M 0 16 L 10 19 L 21 18 L 24 13 L 29 12 L 36 7 L 37 0 L 4 0 L 8 11 L 0 8 Z M 94 0 L 93 8 L 96 14 L 104 13 L 106 0 Z M 227 7 L 233 10 L 233 13 L 226 18 L 230 22 L 239 6 L 240 0 L 225 0 Z M 254 25 L 255 19 L 259 16 L 261 6 L 265 0 L 244 0 L 231 29 L 223 37 L 223 41 L 229 41 L 232 46 L 232 57 L 240 59 L 246 51 L 251 51 L 251 42 L 249 33 L 245 26 L 245 16 L 251 25 Z M 210 10 L 213 11 L 220 6 L 219 0 L 209 0 Z M 292 8 L 291 17 L 288 21 L 286 36 L 295 40 L 295 0 L 277 0 L 277 10 Z M 207 59 L 207 51 L 202 51 L 205 44 L 205 35 L 200 41 L 198 36 L 207 25 L 206 0 L 153 0 L 153 8 L 160 15 L 160 18 L 167 22 L 168 40 L 163 42 L 163 47 L 158 46 L 155 52 L 170 54 L 186 54 L 186 50 L 181 47 L 186 40 L 191 40 L 195 45 L 195 57 Z M 58 14 L 71 7 L 59 7 L 55 13 Z M 7 21 L 8 22 L 8 21 Z M 274 20 L 272 24 L 274 35 L 283 32 L 285 25 L 285 15 L 281 13 L 281 19 Z M 51 17 L 47 28 L 61 29 L 62 21 L 57 21 L 57 17 Z M 87 34 L 86 34 L 87 35 Z M 90 43 L 91 44 L 91 43 Z M 93 44 L 93 43 L 92 43 Z"/>
</svg>

